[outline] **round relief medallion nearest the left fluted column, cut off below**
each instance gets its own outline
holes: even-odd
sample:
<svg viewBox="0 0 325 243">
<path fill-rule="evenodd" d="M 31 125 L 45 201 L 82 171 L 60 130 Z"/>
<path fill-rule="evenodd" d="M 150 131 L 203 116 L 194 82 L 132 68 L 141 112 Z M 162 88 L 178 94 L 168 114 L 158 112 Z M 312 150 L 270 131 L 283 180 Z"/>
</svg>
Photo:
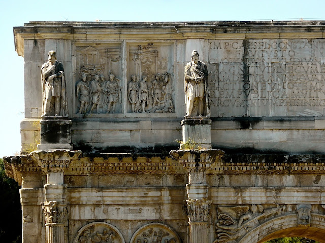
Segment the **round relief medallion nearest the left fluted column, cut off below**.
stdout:
<svg viewBox="0 0 325 243">
<path fill-rule="evenodd" d="M 125 243 L 116 227 L 104 222 L 93 222 L 82 227 L 74 243 Z"/>
</svg>

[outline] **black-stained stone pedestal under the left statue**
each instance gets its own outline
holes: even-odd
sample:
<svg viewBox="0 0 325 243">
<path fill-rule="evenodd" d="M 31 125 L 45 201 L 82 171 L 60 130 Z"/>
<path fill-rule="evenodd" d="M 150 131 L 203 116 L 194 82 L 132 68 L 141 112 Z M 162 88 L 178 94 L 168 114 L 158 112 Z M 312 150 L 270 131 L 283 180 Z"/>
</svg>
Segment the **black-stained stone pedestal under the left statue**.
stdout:
<svg viewBox="0 0 325 243">
<path fill-rule="evenodd" d="M 72 149 L 71 120 L 66 117 L 47 116 L 41 120 L 41 144 L 38 150 Z"/>
</svg>

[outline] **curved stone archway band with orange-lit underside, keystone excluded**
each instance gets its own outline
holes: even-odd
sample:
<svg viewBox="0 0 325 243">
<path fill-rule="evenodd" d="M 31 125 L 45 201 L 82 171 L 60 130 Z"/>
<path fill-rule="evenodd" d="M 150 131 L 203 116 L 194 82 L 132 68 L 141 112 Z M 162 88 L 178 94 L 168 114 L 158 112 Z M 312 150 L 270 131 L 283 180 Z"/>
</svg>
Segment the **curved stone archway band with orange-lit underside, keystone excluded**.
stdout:
<svg viewBox="0 0 325 243">
<path fill-rule="evenodd" d="M 298 226 L 297 214 L 275 217 L 245 234 L 238 243 L 262 243 L 280 237 L 307 237 L 325 243 L 325 215 L 311 214 L 311 225 Z"/>
</svg>

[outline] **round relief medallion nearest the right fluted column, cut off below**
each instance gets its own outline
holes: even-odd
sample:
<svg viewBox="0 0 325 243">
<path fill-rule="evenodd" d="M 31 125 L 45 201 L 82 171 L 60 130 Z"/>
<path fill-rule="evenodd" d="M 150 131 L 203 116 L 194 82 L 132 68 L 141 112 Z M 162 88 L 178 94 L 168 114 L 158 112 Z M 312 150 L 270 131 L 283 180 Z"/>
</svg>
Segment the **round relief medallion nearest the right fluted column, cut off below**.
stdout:
<svg viewBox="0 0 325 243">
<path fill-rule="evenodd" d="M 181 241 L 168 225 L 151 223 L 138 229 L 130 243 L 181 243 Z"/>
</svg>

